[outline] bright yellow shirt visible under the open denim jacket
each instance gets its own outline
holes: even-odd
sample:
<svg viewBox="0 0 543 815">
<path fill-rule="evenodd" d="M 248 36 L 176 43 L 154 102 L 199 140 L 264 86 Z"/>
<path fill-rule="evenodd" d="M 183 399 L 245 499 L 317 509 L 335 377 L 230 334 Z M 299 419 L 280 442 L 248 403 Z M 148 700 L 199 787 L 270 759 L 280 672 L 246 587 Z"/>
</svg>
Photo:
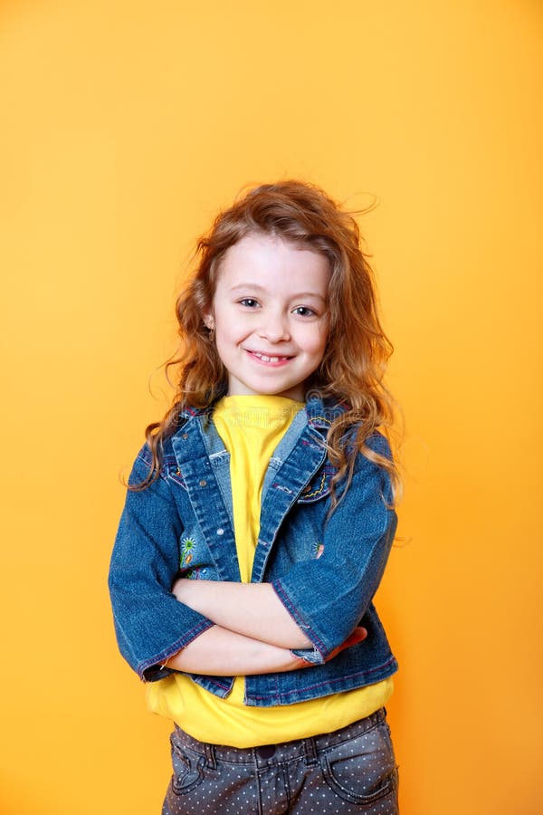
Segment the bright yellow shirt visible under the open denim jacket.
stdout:
<svg viewBox="0 0 543 815">
<path fill-rule="evenodd" d="M 275 396 L 225 397 L 214 426 L 230 453 L 233 527 L 243 582 L 251 580 L 260 527 L 262 484 L 271 455 L 302 403 Z M 307 670 L 311 670 L 307 668 Z M 243 704 L 244 679 L 221 699 L 176 673 L 148 685 L 148 705 L 202 742 L 255 747 L 329 733 L 374 713 L 392 694 L 389 677 L 376 685 L 277 707 Z"/>
</svg>

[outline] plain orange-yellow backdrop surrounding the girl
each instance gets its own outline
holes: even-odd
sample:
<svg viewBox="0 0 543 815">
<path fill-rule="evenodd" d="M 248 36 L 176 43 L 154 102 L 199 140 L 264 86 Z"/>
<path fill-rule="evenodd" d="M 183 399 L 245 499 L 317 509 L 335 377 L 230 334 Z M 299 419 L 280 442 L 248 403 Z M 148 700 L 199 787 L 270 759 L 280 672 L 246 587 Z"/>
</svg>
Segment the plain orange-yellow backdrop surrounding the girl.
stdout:
<svg viewBox="0 0 543 815">
<path fill-rule="evenodd" d="M 543 8 L 0 4 L 6 815 L 149 815 L 169 725 L 118 655 L 119 470 L 195 236 L 246 183 L 362 221 L 406 418 L 379 607 L 403 815 L 535 815 Z"/>
</svg>

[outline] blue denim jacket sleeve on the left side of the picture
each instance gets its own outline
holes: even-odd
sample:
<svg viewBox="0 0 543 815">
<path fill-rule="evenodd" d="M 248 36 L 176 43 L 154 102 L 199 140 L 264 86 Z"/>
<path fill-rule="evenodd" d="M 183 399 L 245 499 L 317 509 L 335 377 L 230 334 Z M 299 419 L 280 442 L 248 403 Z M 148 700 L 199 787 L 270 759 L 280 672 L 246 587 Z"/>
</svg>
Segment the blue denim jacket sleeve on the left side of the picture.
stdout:
<svg viewBox="0 0 543 815">
<path fill-rule="evenodd" d="M 148 464 L 140 454 L 129 484 L 141 483 L 147 475 Z M 110 598 L 119 650 L 148 681 L 172 673 L 160 663 L 213 625 L 171 593 L 182 530 L 164 478 L 144 490 L 128 491 L 111 555 Z"/>
</svg>

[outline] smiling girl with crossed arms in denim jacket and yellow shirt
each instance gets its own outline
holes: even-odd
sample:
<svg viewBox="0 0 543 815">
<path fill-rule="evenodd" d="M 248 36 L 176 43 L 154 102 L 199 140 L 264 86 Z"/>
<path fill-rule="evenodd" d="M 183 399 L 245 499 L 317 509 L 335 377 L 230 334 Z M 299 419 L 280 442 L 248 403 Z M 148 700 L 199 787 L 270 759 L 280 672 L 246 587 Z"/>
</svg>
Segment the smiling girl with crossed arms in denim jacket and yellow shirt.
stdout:
<svg viewBox="0 0 543 815">
<path fill-rule="evenodd" d="M 120 650 L 175 723 L 163 815 L 396 813 L 372 604 L 395 534 L 390 345 L 357 225 L 317 187 L 265 185 L 198 256 L 110 567 Z"/>
</svg>

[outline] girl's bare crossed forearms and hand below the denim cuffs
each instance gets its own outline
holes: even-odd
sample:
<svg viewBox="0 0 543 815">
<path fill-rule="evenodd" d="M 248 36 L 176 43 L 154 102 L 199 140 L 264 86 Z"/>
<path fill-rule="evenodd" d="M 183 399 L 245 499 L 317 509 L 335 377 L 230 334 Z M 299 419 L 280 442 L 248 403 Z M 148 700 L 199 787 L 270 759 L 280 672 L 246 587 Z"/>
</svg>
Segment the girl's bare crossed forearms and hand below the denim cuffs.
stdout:
<svg viewBox="0 0 543 815">
<path fill-rule="evenodd" d="M 180 602 L 214 622 L 199 637 L 167 660 L 178 671 L 222 676 L 249 676 L 310 667 L 291 648 L 312 643 L 291 618 L 269 583 L 176 580 Z M 366 637 L 356 628 L 330 656 Z"/>
</svg>

